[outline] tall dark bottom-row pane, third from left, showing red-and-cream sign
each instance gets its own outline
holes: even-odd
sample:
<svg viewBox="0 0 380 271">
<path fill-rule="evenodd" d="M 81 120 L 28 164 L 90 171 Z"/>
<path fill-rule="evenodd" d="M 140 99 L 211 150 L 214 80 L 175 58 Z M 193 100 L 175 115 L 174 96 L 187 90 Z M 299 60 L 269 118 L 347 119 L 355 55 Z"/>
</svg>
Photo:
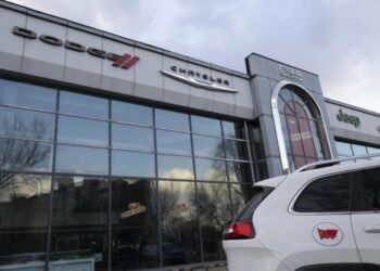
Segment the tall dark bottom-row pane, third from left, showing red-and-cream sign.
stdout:
<svg viewBox="0 0 380 271">
<path fill-rule="evenodd" d="M 155 181 L 112 180 L 112 270 L 160 264 Z"/>
</svg>

